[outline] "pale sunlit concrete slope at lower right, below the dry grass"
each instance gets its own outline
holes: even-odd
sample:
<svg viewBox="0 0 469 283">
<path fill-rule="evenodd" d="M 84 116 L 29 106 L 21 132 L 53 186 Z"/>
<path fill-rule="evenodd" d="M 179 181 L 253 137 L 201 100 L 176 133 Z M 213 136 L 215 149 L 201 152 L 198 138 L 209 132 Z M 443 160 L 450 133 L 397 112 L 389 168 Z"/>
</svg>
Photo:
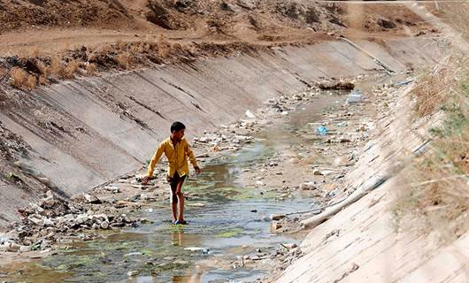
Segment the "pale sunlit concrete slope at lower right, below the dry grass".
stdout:
<svg viewBox="0 0 469 283">
<path fill-rule="evenodd" d="M 304 256 L 277 282 L 467 282 L 469 235 L 442 246 L 434 233 L 400 229 L 393 208 L 404 183 L 405 164 L 425 152 L 433 120 L 411 123 L 411 86 L 376 131 L 346 178 L 348 191 L 380 177 L 380 187 L 314 227 L 301 245 Z M 406 184 L 409 186 L 409 184 Z M 405 226 L 410 226 L 409 224 Z"/>
</svg>

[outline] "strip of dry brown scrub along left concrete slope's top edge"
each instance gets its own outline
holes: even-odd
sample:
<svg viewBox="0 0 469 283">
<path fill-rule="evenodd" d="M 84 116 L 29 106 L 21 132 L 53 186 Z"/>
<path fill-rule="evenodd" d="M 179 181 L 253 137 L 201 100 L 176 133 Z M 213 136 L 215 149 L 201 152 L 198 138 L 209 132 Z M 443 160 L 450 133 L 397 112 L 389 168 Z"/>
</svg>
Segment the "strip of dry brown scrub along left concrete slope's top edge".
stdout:
<svg viewBox="0 0 469 283">
<path fill-rule="evenodd" d="M 186 43 L 169 42 L 164 35 L 155 41 L 116 42 L 95 50 L 82 47 L 64 57 L 11 57 L 16 65 L 10 73 L 13 87 L 24 90 L 77 75 L 96 75 L 100 71 L 129 70 L 142 65 L 193 61 L 196 57 L 225 56 L 235 51 L 264 49 L 244 42 Z"/>
</svg>

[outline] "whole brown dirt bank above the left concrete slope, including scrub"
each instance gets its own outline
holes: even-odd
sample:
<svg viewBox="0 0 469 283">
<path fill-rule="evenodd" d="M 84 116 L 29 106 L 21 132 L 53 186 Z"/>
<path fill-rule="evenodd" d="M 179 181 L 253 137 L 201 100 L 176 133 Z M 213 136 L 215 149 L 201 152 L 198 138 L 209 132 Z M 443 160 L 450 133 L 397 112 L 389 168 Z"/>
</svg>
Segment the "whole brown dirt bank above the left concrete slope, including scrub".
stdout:
<svg viewBox="0 0 469 283">
<path fill-rule="evenodd" d="M 402 4 L 49 0 L 0 7 L 0 83 L 24 89 L 334 36 L 380 42 L 436 32 Z"/>
</svg>

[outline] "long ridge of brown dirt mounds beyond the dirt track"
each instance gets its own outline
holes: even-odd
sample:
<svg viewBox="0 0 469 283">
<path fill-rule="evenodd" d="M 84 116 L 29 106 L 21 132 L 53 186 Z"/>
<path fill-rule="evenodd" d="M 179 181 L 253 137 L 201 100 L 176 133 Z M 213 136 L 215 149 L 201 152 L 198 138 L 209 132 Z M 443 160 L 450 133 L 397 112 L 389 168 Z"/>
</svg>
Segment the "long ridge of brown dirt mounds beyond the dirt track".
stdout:
<svg viewBox="0 0 469 283">
<path fill-rule="evenodd" d="M 416 25 L 419 17 L 403 6 L 315 3 L 304 0 L 0 0 L 0 30 L 24 27 L 98 27 L 192 30 L 238 35 L 242 28 L 274 32 L 288 28 L 340 32 L 356 17 L 369 31 Z M 356 25 L 355 25 L 356 26 Z M 248 32 L 249 31 L 244 31 Z M 264 35 L 264 34 L 263 34 Z M 272 35 L 272 34 L 271 34 Z"/>
</svg>

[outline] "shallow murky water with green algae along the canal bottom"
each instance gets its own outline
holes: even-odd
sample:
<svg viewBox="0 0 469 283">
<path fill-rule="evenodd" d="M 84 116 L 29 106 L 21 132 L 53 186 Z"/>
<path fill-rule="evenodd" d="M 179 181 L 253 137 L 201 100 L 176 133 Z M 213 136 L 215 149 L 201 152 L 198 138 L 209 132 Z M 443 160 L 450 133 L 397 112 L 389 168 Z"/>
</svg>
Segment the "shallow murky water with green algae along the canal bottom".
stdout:
<svg viewBox="0 0 469 283">
<path fill-rule="evenodd" d="M 282 123 L 260 132 L 256 142 L 206 164 L 204 173 L 189 179 L 184 188 L 190 195 L 188 226 L 172 226 L 169 210 L 134 211 L 132 216 L 152 223 L 103 233 L 98 240 L 74 243 L 55 256 L 12 265 L 0 274 L 7 281 L 27 282 L 239 282 L 262 277 L 267 270 L 234 268 L 232 263 L 257 249 L 298 242 L 292 235 L 271 233 L 269 216 L 310 209 L 311 199 L 296 195 L 279 201 L 268 187 L 245 187 L 242 172 L 278 149 L 314 142 L 314 133 L 298 133 L 311 132 L 308 123 L 343 99 L 326 95 L 300 105 Z M 129 278 L 129 271 L 139 273 Z"/>
</svg>

